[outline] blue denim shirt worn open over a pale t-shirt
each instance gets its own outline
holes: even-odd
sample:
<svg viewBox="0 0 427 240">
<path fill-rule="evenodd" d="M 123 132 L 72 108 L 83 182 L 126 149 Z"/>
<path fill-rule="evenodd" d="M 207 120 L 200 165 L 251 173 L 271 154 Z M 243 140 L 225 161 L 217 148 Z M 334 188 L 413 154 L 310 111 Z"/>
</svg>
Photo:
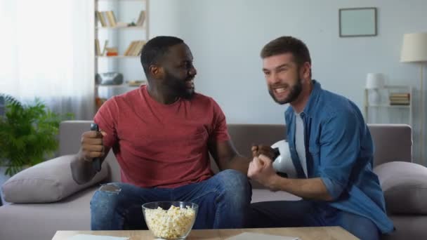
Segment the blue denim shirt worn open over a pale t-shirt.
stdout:
<svg viewBox="0 0 427 240">
<path fill-rule="evenodd" d="M 305 178 L 295 149 L 295 112 L 285 112 L 287 139 L 298 178 Z M 301 113 L 308 178 L 321 178 L 333 201 L 329 206 L 372 220 L 382 233 L 393 231 L 379 179 L 372 171 L 374 144 L 359 108 L 313 80 Z"/>
</svg>

